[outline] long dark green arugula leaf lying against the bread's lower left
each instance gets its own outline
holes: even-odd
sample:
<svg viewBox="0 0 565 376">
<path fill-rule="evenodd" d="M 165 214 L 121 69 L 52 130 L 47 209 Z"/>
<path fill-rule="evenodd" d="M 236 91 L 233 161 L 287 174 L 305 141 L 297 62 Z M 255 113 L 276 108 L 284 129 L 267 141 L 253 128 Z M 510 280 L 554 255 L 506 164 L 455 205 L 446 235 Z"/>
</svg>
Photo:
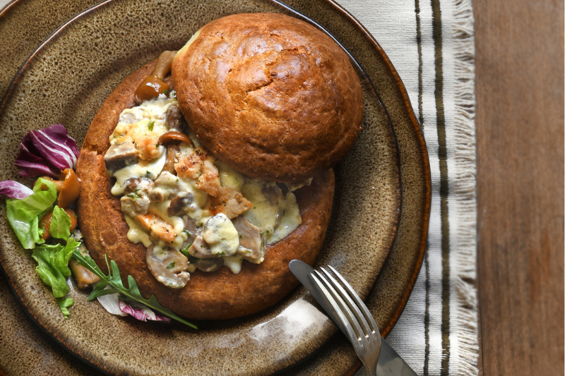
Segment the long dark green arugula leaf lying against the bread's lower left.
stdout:
<svg viewBox="0 0 565 376">
<path fill-rule="evenodd" d="M 90 258 L 90 256 L 83 255 L 80 250 L 75 250 L 73 255 L 79 264 L 83 265 L 83 267 L 90 270 L 90 272 L 93 272 L 98 277 L 100 277 L 100 282 L 98 282 L 96 287 L 93 289 L 93 292 L 90 293 L 90 296 L 88 296 L 89 301 L 92 301 L 98 296 L 108 295 L 110 293 L 121 293 L 122 299 L 124 299 L 125 301 L 132 301 L 132 302 L 145 304 L 149 308 L 156 310 L 157 312 L 160 312 L 163 315 L 167 315 L 174 320 L 182 322 L 184 325 L 188 325 L 189 327 L 198 329 L 196 325 L 191 324 L 190 322 L 172 313 L 172 310 L 169 310 L 163 307 L 162 305 L 160 305 L 159 302 L 157 301 L 157 298 L 155 298 L 154 295 L 152 295 L 149 299 L 143 298 L 137 286 L 136 280 L 133 279 L 131 275 L 128 276 L 129 289 L 126 289 L 126 287 L 121 281 L 118 265 L 114 260 L 110 260 L 110 265 L 108 265 L 108 259 L 106 257 L 106 265 L 108 267 L 108 275 L 106 275 L 96 265 L 96 262 L 92 258 Z M 112 287 L 110 289 L 105 289 L 105 287 L 108 284 Z"/>
</svg>

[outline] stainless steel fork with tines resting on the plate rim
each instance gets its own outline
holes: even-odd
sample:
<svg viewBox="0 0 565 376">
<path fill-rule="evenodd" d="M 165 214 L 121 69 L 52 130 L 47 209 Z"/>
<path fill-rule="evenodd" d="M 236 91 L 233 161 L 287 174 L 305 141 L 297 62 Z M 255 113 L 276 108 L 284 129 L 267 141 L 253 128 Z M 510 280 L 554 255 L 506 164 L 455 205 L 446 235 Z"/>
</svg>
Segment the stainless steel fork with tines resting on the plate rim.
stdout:
<svg viewBox="0 0 565 376">
<path fill-rule="evenodd" d="M 331 303 L 335 316 L 339 317 L 336 324 L 353 344 L 357 356 L 365 366 L 367 376 L 375 376 L 376 363 L 381 353 L 379 328 L 367 305 L 351 285 L 333 267 L 328 266 L 328 269 L 332 273 L 323 267 L 321 272 L 314 270 L 311 273 L 312 279 Z M 333 316 L 332 313 L 328 314 Z"/>
</svg>

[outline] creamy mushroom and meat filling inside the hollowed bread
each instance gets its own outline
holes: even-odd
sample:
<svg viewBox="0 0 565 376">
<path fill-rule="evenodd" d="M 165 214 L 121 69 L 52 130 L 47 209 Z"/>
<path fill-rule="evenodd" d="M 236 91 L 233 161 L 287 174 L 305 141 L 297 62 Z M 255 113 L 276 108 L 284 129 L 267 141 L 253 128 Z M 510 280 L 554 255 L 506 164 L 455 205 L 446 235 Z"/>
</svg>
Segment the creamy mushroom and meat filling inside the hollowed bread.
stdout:
<svg viewBox="0 0 565 376">
<path fill-rule="evenodd" d="M 263 262 L 266 245 L 302 223 L 292 191 L 310 183 L 244 176 L 187 137 L 188 129 L 173 91 L 122 111 L 105 154 L 128 239 L 143 243 L 150 271 L 172 288 L 196 269 L 225 265 L 237 274 L 242 260 Z"/>
</svg>

